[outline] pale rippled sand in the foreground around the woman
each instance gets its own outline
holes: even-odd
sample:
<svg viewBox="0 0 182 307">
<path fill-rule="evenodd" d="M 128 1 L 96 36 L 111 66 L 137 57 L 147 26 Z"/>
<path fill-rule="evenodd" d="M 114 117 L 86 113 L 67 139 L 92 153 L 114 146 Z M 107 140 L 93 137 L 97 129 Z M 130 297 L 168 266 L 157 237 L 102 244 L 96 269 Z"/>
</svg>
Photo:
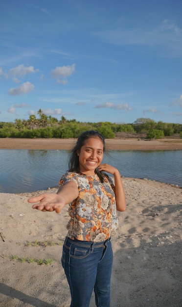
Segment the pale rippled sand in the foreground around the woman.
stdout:
<svg viewBox="0 0 182 307">
<path fill-rule="evenodd" d="M 122 180 L 127 209 L 118 212 L 119 230 L 112 236 L 111 307 L 181 307 L 182 189 Z M 70 302 L 60 262 L 68 206 L 60 214 L 33 210 L 27 198 L 40 192 L 0 193 L 0 307 L 64 307 Z M 38 264 L 50 258 L 50 264 Z"/>
</svg>

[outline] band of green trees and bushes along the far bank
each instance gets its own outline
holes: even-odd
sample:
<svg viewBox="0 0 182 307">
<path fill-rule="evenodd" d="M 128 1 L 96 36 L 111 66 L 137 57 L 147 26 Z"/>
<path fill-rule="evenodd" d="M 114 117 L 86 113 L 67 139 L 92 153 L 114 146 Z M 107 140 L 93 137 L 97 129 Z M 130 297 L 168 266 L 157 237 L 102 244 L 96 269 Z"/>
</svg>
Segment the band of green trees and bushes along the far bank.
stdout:
<svg viewBox="0 0 182 307">
<path fill-rule="evenodd" d="M 143 136 L 149 139 L 178 135 L 182 138 L 182 124 L 155 122 L 150 118 L 138 118 L 132 124 L 115 124 L 110 122 L 86 123 L 75 119 L 60 121 L 47 116 L 40 109 L 39 118 L 30 115 L 28 120 L 16 119 L 14 123 L 0 122 L 0 138 L 77 138 L 86 130 L 97 130 L 105 138 L 114 138 L 122 133 L 127 136 Z"/>
</svg>

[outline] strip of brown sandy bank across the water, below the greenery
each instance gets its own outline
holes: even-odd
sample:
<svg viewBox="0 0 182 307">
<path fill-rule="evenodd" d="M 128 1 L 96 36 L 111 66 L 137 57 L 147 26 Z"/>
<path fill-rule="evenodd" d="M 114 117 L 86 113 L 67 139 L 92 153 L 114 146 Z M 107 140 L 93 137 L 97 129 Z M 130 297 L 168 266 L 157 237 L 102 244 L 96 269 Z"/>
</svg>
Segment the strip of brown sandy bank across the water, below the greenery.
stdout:
<svg viewBox="0 0 182 307">
<path fill-rule="evenodd" d="M 69 150 L 76 139 L 16 139 L 0 138 L 0 149 Z M 182 150 L 182 139 L 164 138 L 147 140 L 138 138 L 106 139 L 110 150 Z"/>
</svg>

